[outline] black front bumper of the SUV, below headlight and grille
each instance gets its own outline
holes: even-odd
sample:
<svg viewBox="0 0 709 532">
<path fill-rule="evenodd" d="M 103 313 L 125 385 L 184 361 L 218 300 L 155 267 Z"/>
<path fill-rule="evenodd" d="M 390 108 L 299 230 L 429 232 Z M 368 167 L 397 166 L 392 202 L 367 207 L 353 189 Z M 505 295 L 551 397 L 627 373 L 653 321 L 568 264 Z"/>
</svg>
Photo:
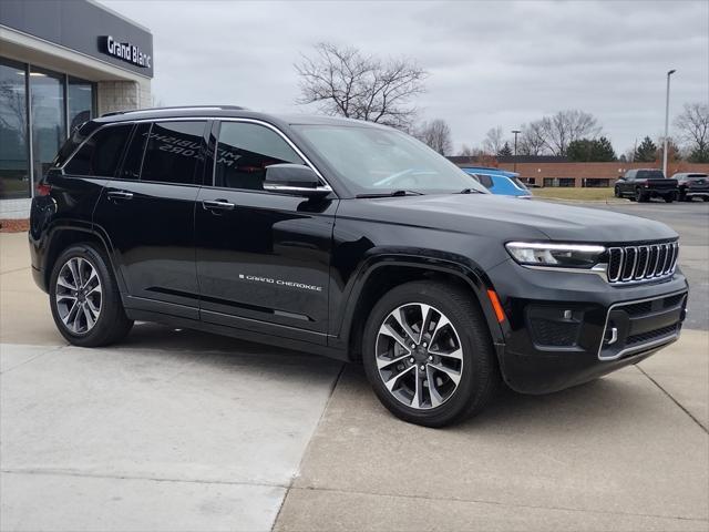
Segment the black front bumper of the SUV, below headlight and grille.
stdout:
<svg viewBox="0 0 709 532">
<path fill-rule="evenodd" d="M 507 385 L 546 393 L 637 364 L 679 337 L 687 280 L 612 286 L 595 274 L 510 260 L 490 272 L 507 319 L 497 346 Z"/>
</svg>

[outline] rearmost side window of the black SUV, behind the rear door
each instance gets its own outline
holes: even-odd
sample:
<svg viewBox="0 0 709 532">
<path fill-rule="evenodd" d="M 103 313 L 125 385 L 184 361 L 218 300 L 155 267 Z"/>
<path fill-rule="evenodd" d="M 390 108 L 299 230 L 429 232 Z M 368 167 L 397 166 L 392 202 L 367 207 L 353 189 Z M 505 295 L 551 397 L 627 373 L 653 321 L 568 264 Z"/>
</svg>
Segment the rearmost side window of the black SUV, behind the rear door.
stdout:
<svg viewBox="0 0 709 532">
<path fill-rule="evenodd" d="M 66 163 L 73 175 L 113 177 L 133 124 L 109 125 L 94 133 Z"/>
</svg>

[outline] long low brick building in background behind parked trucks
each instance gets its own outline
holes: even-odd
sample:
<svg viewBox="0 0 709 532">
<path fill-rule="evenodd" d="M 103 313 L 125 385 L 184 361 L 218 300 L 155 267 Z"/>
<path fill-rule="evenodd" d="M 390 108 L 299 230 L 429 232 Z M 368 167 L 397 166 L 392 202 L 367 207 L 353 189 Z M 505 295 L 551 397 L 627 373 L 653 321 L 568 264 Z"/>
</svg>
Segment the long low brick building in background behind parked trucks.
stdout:
<svg viewBox="0 0 709 532">
<path fill-rule="evenodd" d="M 512 171 L 513 163 L 499 163 L 501 170 Z M 662 163 L 566 163 L 566 162 L 538 162 L 517 163 L 520 177 L 525 181 L 534 177 L 534 184 L 544 185 L 544 178 L 573 178 L 575 186 L 583 186 L 584 180 L 609 180 L 613 185 L 615 180 L 631 168 L 661 168 Z M 686 162 L 668 162 L 667 173 L 671 176 L 677 172 L 709 173 L 709 164 L 690 164 Z"/>
</svg>

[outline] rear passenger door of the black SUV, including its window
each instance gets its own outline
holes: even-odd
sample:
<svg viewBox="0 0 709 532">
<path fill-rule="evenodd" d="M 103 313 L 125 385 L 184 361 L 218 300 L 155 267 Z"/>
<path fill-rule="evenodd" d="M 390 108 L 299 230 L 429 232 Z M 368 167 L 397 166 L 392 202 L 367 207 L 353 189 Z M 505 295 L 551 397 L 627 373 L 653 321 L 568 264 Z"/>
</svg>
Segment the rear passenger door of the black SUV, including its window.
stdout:
<svg viewBox="0 0 709 532">
<path fill-rule="evenodd" d="M 137 123 L 119 176 L 101 194 L 94 222 L 112 244 L 129 308 L 198 319 L 194 211 L 207 123 Z"/>
</svg>

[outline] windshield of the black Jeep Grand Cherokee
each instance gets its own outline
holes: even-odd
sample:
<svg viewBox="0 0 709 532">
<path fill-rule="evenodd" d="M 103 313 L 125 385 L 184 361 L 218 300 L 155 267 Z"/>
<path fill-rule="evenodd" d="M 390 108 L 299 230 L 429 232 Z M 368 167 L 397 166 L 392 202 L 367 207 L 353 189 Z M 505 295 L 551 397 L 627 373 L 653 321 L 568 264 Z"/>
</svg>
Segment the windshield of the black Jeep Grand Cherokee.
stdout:
<svg viewBox="0 0 709 532">
<path fill-rule="evenodd" d="M 487 193 L 474 178 L 415 139 L 368 126 L 295 125 L 356 194 Z"/>
</svg>

